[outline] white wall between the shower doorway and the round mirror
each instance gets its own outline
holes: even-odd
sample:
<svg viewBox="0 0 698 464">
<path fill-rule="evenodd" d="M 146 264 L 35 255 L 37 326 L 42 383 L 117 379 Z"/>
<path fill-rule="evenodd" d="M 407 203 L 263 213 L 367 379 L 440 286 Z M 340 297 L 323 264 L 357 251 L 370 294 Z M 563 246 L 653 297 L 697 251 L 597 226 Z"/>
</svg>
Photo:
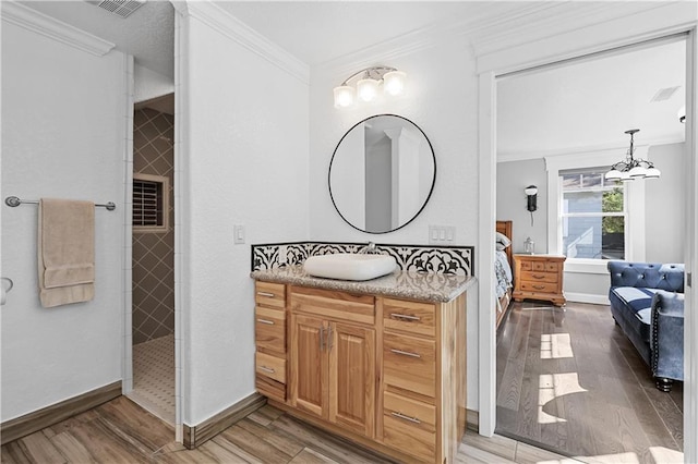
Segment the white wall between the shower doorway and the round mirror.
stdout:
<svg viewBox="0 0 698 464">
<path fill-rule="evenodd" d="M 309 236 L 308 83 L 240 44 L 222 12 L 213 17 L 217 29 L 185 19 L 180 93 L 189 114 L 180 164 L 188 425 L 254 392 L 250 244 Z M 233 224 L 244 225 L 245 244 L 233 245 Z"/>
</svg>

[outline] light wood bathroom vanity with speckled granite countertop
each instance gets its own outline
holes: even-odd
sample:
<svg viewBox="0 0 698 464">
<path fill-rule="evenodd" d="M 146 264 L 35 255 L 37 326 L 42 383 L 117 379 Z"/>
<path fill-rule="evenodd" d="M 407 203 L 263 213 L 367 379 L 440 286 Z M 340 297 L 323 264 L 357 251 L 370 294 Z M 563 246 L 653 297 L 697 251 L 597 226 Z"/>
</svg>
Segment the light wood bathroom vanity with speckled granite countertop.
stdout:
<svg viewBox="0 0 698 464">
<path fill-rule="evenodd" d="M 252 272 L 256 388 L 289 414 L 401 462 L 452 463 L 466 426 L 471 277 L 363 282 Z"/>
</svg>

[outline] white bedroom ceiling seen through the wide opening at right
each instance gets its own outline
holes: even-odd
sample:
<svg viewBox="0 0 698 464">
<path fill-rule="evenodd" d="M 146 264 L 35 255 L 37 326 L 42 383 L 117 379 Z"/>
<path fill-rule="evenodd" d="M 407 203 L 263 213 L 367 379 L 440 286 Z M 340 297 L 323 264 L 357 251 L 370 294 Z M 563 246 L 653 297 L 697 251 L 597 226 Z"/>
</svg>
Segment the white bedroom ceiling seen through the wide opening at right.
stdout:
<svg viewBox="0 0 698 464">
<path fill-rule="evenodd" d="M 682 142 L 678 110 L 686 96 L 686 41 L 670 40 L 607 53 L 497 83 L 500 158 Z M 661 89 L 678 87 L 652 101 Z"/>
</svg>

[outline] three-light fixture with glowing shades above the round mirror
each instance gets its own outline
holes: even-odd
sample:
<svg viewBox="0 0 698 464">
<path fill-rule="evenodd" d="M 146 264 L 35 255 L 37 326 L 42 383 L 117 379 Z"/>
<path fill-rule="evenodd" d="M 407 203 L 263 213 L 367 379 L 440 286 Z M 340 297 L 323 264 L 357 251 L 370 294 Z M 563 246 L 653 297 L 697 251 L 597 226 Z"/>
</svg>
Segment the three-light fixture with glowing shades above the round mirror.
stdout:
<svg viewBox="0 0 698 464">
<path fill-rule="evenodd" d="M 358 96 L 362 101 L 372 101 L 378 95 L 383 84 L 383 93 L 397 97 L 405 94 L 407 74 L 395 68 L 373 66 L 350 75 L 340 86 L 335 87 L 335 108 L 347 108 L 353 105 Z M 357 88 L 351 85 L 356 81 Z"/>
</svg>

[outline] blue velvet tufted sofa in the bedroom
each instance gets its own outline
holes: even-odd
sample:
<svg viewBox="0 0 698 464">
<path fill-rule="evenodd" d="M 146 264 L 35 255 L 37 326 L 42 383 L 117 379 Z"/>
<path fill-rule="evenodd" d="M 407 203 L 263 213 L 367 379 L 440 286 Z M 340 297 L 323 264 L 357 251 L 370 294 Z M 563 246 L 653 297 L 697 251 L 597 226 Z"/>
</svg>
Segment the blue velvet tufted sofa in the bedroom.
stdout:
<svg viewBox="0 0 698 464">
<path fill-rule="evenodd" d="M 671 391 L 684 380 L 684 265 L 609 261 L 611 314 Z"/>
</svg>

